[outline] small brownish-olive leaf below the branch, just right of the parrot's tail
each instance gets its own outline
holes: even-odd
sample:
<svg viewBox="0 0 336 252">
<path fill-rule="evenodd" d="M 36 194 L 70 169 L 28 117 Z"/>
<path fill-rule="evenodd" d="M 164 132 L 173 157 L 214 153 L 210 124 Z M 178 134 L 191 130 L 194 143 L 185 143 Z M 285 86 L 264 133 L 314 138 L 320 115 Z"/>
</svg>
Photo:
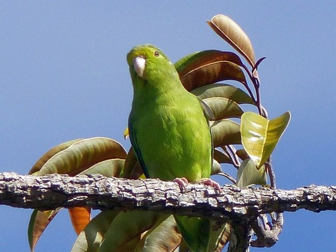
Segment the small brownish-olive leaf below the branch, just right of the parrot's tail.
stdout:
<svg viewBox="0 0 336 252">
<path fill-rule="evenodd" d="M 228 223 L 210 221 L 210 241 L 207 252 L 221 252 L 229 242 L 231 227 Z"/>
</svg>

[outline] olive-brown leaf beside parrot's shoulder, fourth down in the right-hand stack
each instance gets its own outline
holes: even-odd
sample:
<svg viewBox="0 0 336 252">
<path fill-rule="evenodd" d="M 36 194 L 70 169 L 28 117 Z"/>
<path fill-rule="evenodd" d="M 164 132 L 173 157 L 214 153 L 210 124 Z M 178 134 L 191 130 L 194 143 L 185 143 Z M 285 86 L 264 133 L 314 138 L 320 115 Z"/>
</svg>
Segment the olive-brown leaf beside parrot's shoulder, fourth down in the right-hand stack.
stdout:
<svg viewBox="0 0 336 252">
<path fill-rule="evenodd" d="M 214 114 L 213 120 L 225 118 L 240 118 L 244 113 L 242 108 L 234 101 L 222 97 L 212 97 L 203 100 Z"/>
</svg>

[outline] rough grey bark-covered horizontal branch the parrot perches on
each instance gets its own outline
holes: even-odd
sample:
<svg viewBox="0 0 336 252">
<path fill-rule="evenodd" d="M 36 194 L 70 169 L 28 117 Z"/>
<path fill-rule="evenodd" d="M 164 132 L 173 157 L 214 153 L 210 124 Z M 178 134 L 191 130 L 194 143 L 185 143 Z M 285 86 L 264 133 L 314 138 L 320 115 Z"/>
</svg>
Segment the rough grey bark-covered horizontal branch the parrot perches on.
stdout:
<svg viewBox="0 0 336 252">
<path fill-rule="evenodd" d="M 212 187 L 191 183 L 184 192 L 174 182 L 87 176 L 25 176 L 0 173 L 0 204 L 21 208 L 91 206 L 94 209 L 145 209 L 247 224 L 260 214 L 336 210 L 336 186 L 294 190 Z"/>
</svg>

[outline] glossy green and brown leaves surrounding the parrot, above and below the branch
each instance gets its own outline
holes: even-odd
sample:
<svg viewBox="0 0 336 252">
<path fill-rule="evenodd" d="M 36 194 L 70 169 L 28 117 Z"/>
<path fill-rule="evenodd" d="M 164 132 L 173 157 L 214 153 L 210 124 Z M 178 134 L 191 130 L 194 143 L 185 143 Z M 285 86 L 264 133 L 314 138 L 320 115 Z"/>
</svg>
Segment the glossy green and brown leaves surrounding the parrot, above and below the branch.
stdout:
<svg viewBox="0 0 336 252">
<path fill-rule="evenodd" d="M 289 122 L 290 114 L 286 112 L 276 119 L 267 119 L 260 101 L 257 72 L 264 58 L 256 61 L 252 43 L 245 32 L 224 15 L 214 16 L 207 23 L 248 63 L 246 66 L 234 52 L 221 50 L 195 52 L 175 63 L 184 87 L 207 103 L 214 114 L 210 122 L 215 148 L 211 175 L 225 176 L 240 187 L 264 186 L 267 167 L 270 169 L 267 162 Z M 240 83 L 245 91 L 233 84 L 218 83 L 225 80 Z M 258 114 L 244 113 L 241 104 L 249 104 Z M 126 129 L 124 136 L 127 135 Z M 243 147 L 236 151 L 236 147 L 241 145 Z M 237 169 L 236 179 L 222 171 L 221 163 L 231 164 Z M 45 153 L 29 172 L 33 176 L 52 173 L 144 178 L 133 149 L 126 152 L 121 144 L 105 137 L 60 144 Z M 33 211 L 28 225 L 31 251 L 60 210 Z M 173 252 L 179 246 L 180 251 L 188 250 L 171 215 L 111 210 L 90 220 L 91 211 L 84 207 L 69 209 L 69 214 L 78 234 L 72 252 L 103 252 L 111 251 L 111 248 L 113 251 Z M 218 226 L 213 223 L 208 251 L 222 251 L 229 236 L 229 224 Z"/>
</svg>

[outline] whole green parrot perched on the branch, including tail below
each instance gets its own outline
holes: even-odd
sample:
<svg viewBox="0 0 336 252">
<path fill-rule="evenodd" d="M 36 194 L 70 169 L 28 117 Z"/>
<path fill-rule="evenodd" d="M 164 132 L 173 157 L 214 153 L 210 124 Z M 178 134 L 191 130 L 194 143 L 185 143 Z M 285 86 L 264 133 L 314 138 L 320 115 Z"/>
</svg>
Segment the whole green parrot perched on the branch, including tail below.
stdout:
<svg viewBox="0 0 336 252">
<path fill-rule="evenodd" d="M 148 178 L 202 182 L 220 191 L 209 178 L 212 140 L 207 115 L 211 110 L 182 85 L 174 65 L 153 45 L 134 47 L 127 54 L 133 85 L 129 137 Z M 174 216 L 192 251 L 207 251 L 209 220 Z"/>
</svg>

